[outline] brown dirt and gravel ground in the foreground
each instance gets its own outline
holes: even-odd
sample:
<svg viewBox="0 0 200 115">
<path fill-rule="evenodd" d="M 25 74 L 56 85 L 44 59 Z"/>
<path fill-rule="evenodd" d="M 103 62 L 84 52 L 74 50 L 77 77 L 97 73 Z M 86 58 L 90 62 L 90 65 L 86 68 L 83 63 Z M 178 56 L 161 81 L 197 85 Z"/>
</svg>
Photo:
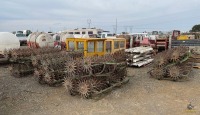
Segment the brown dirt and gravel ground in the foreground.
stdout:
<svg viewBox="0 0 200 115">
<path fill-rule="evenodd" d="M 200 70 L 190 80 L 149 78 L 149 67 L 129 68 L 128 84 L 101 100 L 70 96 L 64 87 L 40 85 L 33 76 L 14 78 L 0 66 L 0 115 L 183 115 L 200 114 Z M 194 110 L 186 109 L 192 102 Z"/>
</svg>

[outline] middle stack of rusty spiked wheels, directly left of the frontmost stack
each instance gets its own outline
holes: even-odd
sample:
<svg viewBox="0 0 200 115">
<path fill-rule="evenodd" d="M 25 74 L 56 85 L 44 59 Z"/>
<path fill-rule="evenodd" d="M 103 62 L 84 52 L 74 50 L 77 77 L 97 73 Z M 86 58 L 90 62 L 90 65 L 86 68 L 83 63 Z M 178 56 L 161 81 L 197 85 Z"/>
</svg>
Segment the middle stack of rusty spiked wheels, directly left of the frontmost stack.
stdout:
<svg viewBox="0 0 200 115">
<path fill-rule="evenodd" d="M 38 82 L 49 86 L 61 85 L 66 76 L 64 66 L 67 58 L 69 54 L 65 51 L 33 56 L 34 76 Z"/>
</svg>

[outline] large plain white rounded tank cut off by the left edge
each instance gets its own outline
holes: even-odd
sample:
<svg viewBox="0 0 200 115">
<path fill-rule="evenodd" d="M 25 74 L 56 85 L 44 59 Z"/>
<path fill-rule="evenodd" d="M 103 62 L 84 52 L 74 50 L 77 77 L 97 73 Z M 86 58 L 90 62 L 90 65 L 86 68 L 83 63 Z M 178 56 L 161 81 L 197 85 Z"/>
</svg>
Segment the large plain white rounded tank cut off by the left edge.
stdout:
<svg viewBox="0 0 200 115">
<path fill-rule="evenodd" d="M 0 54 L 3 55 L 4 50 L 20 48 L 19 39 L 12 33 L 0 32 Z"/>
</svg>

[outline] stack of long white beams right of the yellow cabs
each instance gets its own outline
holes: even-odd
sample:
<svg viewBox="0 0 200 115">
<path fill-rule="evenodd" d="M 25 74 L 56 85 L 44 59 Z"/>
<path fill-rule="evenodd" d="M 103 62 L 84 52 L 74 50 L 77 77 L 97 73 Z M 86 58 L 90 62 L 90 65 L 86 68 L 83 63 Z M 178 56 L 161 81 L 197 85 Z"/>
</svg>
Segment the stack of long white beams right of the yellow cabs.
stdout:
<svg viewBox="0 0 200 115">
<path fill-rule="evenodd" d="M 152 47 L 134 47 L 125 50 L 127 54 L 127 65 L 141 67 L 153 61 Z"/>
</svg>

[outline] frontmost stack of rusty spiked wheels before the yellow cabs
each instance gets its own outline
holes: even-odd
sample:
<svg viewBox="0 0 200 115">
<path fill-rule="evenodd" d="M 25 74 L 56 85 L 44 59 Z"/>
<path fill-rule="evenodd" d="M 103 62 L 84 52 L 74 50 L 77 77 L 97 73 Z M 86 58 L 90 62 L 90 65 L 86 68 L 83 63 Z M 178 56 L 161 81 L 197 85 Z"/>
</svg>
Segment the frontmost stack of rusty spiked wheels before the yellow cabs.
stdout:
<svg viewBox="0 0 200 115">
<path fill-rule="evenodd" d="M 64 86 L 71 95 L 95 97 L 128 82 L 124 51 L 97 57 L 68 59 Z"/>
</svg>

